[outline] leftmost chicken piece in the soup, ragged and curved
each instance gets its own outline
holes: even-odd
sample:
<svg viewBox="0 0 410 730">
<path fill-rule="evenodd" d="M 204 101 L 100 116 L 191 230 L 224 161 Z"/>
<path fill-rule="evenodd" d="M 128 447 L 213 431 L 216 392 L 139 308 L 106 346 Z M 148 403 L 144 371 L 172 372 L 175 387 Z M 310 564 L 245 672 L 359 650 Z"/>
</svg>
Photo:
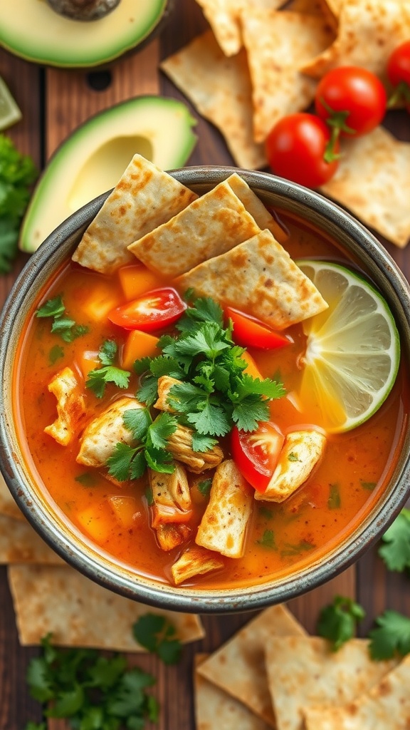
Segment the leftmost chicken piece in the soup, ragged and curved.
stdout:
<svg viewBox="0 0 410 730">
<path fill-rule="evenodd" d="M 57 419 L 44 430 L 59 444 L 66 446 L 85 416 L 84 396 L 74 372 L 69 367 L 65 367 L 50 380 L 48 390 L 57 399 Z"/>
</svg>

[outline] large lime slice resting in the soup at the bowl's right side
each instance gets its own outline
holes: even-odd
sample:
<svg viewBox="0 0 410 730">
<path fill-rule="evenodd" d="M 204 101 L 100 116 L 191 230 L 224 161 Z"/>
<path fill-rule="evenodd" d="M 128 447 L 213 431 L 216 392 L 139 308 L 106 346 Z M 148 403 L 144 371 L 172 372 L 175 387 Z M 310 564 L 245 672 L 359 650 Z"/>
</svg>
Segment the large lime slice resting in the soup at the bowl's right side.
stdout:
<svg viewBox="0 0 410 730">
<path fill-rule="evenodd" d="M 330 433 L 371 417 L 398 372 L 400 340 L 383 297 L 344 266 L 298 261 L 329 308 L 306 320 L 301 399 Z"/>
</svg>

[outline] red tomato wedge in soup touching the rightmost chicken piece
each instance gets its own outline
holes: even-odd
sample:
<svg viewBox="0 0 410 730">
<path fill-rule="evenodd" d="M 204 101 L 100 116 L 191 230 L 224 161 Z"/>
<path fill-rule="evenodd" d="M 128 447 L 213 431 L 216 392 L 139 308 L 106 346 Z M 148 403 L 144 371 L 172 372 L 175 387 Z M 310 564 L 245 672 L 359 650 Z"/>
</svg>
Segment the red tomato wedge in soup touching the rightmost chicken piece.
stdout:
<svg viewBox="0 0 410 730">
<path fill-rule="evenodd" d="M 274 473 L 284 436 L 274 423 L 263 421 L 258 431 L 247 433 L 233 426 L 231 449 L 241 475 L 258 492 L 264 492 Z"/>
</svg>

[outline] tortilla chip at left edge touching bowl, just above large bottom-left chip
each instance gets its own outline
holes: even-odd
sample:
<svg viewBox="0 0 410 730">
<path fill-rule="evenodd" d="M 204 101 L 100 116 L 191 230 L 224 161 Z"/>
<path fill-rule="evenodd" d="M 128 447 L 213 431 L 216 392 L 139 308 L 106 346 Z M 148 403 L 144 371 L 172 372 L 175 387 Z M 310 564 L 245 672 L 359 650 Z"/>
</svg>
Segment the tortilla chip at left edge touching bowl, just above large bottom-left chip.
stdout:
<svg viewBox="0 0 410 730">
<path fill-rule="evenodd" d="M 0 564 L 12 563 L 61 565 L 63 560 L 26 520 L 0 515 Z"/>
</svg>

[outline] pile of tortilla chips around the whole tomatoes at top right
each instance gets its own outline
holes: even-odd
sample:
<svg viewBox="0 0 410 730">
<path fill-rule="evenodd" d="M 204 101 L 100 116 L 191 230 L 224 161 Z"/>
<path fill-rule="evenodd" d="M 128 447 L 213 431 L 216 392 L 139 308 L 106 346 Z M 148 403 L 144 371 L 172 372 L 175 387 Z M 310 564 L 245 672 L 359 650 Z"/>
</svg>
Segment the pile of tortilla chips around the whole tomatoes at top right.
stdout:
<svg viewBox="0 0 410 730">
<path fill-rule="evenodd" d="M 410 37 L 406 0 L 197 0 L 211 26 L 161 68 L 220 129 L 236 164 L 266 167 L 264 142 L 309 108 L 320 78 L 362 66 L 387 85 L 392 50 Z M 285 6 L 285 7 L 283 7 Z M 342 141 L 322 192 L 395 245 L 410 239 L 410 144 L 384 128 Z"/>
</svg>

